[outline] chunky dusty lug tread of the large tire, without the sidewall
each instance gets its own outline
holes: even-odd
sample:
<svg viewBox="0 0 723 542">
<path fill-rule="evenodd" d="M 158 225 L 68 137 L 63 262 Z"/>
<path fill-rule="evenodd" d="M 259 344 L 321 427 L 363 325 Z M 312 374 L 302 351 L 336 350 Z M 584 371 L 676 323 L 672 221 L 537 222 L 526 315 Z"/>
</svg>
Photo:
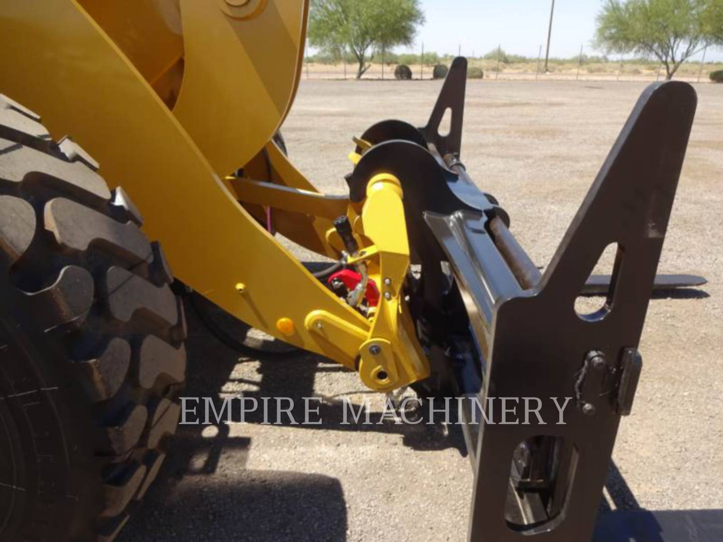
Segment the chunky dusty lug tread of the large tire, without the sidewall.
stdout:
<svg viewBox="0 0 723 542">
<path fill-rule="evenodd" d="M 0 95 L 0 264 L 24 300 L 22 310 L 37 315 L 34 324 L 64 353 L 64 364 L 54 371 L 69 375 L 80 392 L 30 384 L 25 376 L 33 369 L 27 366 L 16 369 L 20 378 L 11 383 L 27 394 L 22 398 L 42 392 L 46 402 L 85 405 L 94 424 L 65 427 L 65 449 L 48 439 L 34 444 L 56 446 L 45 450 L 53 458 L 46 470 L 61 481 L 72 474 L 61 458 L 80 446 L 76 432 L 85 434 L 98 473 L 95 488 L 81 490 L 102 495 L 82 530 L 67 533 L 78 518 L 69 513 L 59 520 L 51 513 L 61 499 L 30 499 L 26 492 L 25 517 L 31 519 L 16 522 L 20 539 L 54 541 L 69 534 L 112 541 L 132 502 L 157 476 L 180 413 L 186 330 L 182 304 L 169 287 L 171 268 L 161 247 L 140 231 L 137 207 L 121 188 L 111 192 L 97 169 L 80 145 L 68 137 L 53 142 L 38 115 Z M 27 290 L 16 277 L 27 274 L 37 275 L 31 283 L 39 288 Z M 26 390 L 21 382 L 36 388 Z M 38 407 L 30 412 L 33 430 L 44 434 L 43 424 L 51 420 Z"/>
</svg>

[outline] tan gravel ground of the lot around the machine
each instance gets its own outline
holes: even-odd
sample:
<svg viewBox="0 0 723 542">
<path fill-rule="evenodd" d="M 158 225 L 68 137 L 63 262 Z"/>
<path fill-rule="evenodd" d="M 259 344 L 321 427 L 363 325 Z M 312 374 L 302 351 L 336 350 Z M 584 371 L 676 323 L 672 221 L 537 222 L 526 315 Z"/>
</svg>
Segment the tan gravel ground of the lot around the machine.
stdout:
<svg viewBox="0 0 723 542">
<path fill-rule="evenodd" d="M 643 87 L 470 83 L 463 160 L 539 264 L 552 257 Z M 351 136 L 390 117 L 424 124 L 439 88 L 304 81 L 283 126 L 291 158 L 320 189 L 341 194 Z M 660 270 L 709 283 L 651 301 L 643 376 L 605 490 L 611 509 L 723 508 L 723 87 L 700 85 L 698 93 Z M 310 354 L 239 358 L 188 314 L 187 395 L 325 397 L 325 423 L 262 425 L 254 417 L 182 427 L 160 482 L 119 540 L 465 540 L 472 475 L 455 431 L 339 426 L 341 397 L 380 400 L 355 374 Z"/>
</svg>

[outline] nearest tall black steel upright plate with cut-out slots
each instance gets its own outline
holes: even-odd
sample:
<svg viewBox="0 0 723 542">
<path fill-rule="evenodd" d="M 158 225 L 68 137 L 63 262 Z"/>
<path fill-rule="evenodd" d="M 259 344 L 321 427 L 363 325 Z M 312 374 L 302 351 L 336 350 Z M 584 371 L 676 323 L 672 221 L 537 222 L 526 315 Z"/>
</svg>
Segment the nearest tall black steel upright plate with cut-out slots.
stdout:
<svg viewBox="0 0 723 542">
<path fill-rule="evenodd" d="M 482 260 L 489 234 L 464 213 L 427 213 L 463 297 L 482 361 L 462 356 L 458 390 L 479 397 L 573 397 L 565 425 L 466 429 L 476 470 L 472 541 L 586 541 L 591 538 L 620 416 L 629 413 L 641 370 L 636 348 L 675 197 L 696 93 L 683 82 L 648 87 L 534 288 L 500 280 L 507 266 Z M 619 246 L 607 304 L 580 315 L 575 299 L 611 243 Z M 468 301 L 469 303 L 469 301 Z M 602 356 L 596 370 L 590 353 Z M 581 369 L 589 362 L 581 379 Z M 475 384 L 470 372 L 479 371 Z M 479 385 L 479 387 L 476 387 Z M 558 413 L 547 401 L 543 420 Z M 540 437 L 557 445 L 547 494 L 510 486 L 515 449 Z M 510 495 L 527 503 L 510 515 Z M 521 506 L 521 508 L 525 508 Z"/>
</svg>

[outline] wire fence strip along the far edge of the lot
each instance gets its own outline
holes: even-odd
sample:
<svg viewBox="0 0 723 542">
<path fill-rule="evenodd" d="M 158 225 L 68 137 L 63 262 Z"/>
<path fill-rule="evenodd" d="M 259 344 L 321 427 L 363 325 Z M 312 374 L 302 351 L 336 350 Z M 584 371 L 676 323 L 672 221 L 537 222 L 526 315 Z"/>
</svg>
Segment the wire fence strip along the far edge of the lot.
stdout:
<svg viewBox="0 0 723 542">
<path fill-rule="evenodd" d="M 664 64 L 646 59 L 610 59 L 588 55 L 585 46 L 580 47 L 578 56 L 571 59 L 551 58 L 547 63 L 543 57 L 541 44 L 534 56 L 508 55 L 500 46 L 495 51 L 476 56 L 475 51 L 467 53 L 469 66 L 479 67 L 484 79 L 495 80 L 537 80 L 537 81 L 662 81 L 666 78 Z M 465 54 L 461 46 L 459 53 Z M 711 72 L 723 69 L 723 62 L 706 62 L 707 50 L 698 59 L 684 62 L 673 79 L 688 82 L 710 82 Z M 426 58 L 425 58 L 426 56 Z M 418 52 L 386 53 L 380 51 L 368 63 L 369 67 L 362 79 L 395 79 L 395 68 L 404 63 L 409 66 L 413 79 L 433 79 L 435 64 L 449 66 L 452 56 L 439 56 L 437 53 L 425 53 L 424 44 Z M 410 61 L 414 59 L 415 61 Z M 306 79 L 356 79 L 358 63 L 349 56 L 340 59 L 323 59 L 319 55 L 304 59 L 304 77 Z"/>
</svg>

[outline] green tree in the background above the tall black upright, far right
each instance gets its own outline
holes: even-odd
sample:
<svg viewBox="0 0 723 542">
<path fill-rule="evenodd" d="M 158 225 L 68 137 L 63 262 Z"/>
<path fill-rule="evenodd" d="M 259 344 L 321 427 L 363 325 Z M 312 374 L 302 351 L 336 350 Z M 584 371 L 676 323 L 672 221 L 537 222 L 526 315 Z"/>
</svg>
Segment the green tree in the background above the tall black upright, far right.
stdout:
<svg viewBox="0 0 723 542">
<path fill-rule="evenodd" d="M 608 53 L 656 57 L 672 79 L 685 60 L 723 44 L 723 0 L 606 0 L 595 41 Z"/>
</svg>

